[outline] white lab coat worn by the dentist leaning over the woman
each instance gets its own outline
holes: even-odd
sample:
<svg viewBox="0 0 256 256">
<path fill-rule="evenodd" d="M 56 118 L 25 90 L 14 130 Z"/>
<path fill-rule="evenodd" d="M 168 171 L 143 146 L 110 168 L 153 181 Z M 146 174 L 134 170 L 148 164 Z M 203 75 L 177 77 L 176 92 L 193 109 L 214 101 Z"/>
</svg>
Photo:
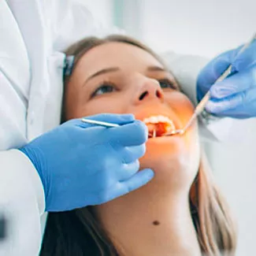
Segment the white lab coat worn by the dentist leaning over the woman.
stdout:
<svg viewBox="0 0 256 256">
<path fill-rule="evenodd" d="M 109 31 L 69 0 L 1 0 L 0 20 L 0 211 L 9 220 L 9 239 L 0 242 L 0 255 L 36 256 L 43 233 L 43 186 L 32 163 L 15 149 L 59 124 L 61 50 Z M 207 60 L 195 65 L 194 58 L 169 54 L 167 59 L 173 70 L 183 63 L 174 72 L 195 101 L 195 77 Z"/>
</svg>

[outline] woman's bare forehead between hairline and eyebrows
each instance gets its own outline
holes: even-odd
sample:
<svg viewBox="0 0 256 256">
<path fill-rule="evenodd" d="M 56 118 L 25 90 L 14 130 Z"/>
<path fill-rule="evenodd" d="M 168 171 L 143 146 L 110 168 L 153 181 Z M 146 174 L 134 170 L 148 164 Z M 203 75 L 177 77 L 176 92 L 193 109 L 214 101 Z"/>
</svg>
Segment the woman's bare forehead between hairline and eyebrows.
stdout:
<svg viewBox="0 0 256 256">
<path fill-rule="evenodd" d="M 147 66 L 161 63 L 146 50 L 128 43 L 110 42 L 89 50 L 80 59 L 76 72 L 83 72 L 84 76 L 91 76 L 101 69 L 118 67 L 128 72 L 143 71 Z"/>
</svg>

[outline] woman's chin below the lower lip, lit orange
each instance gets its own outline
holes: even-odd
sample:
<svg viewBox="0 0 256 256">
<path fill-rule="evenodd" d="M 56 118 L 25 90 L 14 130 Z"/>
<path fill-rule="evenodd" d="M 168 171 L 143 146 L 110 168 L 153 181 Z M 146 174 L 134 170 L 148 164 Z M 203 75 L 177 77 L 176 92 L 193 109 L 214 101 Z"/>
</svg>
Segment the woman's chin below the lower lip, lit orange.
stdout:
<svg viewBox="0 0 256 256">
<path fill-rule="evenodd" d="M 194 133 L 194 132 L 193 132 Z M 198 136 L 190 134 L 148 139 L 147 150 L 139 159 L 140 169 L 154 170 L 153 185 L 189 190 L 198 173 L 200 147 Z"/>
</svg>

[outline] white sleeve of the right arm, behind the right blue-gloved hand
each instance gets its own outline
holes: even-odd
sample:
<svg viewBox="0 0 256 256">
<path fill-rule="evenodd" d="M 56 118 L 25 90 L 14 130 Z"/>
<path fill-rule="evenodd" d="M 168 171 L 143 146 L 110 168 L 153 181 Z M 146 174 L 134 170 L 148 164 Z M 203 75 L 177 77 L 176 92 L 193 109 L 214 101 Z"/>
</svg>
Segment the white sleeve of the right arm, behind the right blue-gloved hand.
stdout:
<svg viewBox="0 0 256 256">
<path fill-rule="evenodd" d="M 161 54 L 169 70 L 173 72 L 176 80 L 180 83 L 182 91 L 191 99 L 194 106 L 196 99 L 196 80 L 200 70 L 209 62 L 209 59 L 195 55 L 181 55 L 173 52 Z M 236 134 L 233 124 L 236 120 L 229 117 L 201 117 L 200 135 L 204 140 L 226 141 L 233 139 L 230 134 Z M 237 137 L 237 136 L 234 136 Z"/>
</svg>

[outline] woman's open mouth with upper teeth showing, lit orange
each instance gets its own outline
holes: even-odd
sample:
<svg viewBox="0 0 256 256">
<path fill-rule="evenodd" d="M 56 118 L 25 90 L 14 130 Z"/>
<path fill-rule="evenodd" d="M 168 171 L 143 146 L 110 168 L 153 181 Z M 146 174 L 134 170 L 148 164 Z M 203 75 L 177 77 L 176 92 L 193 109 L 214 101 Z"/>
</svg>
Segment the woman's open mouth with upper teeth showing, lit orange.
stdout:
<svg viewBox="0 0 256 256">
<path fill-rule="evenodd" d="M 148 128 L 148 138 L 161 137 L 166 132 L 176 130 L 173 121 L 165 116 L 151 116 L 143 119 Z"/>
</svg>

